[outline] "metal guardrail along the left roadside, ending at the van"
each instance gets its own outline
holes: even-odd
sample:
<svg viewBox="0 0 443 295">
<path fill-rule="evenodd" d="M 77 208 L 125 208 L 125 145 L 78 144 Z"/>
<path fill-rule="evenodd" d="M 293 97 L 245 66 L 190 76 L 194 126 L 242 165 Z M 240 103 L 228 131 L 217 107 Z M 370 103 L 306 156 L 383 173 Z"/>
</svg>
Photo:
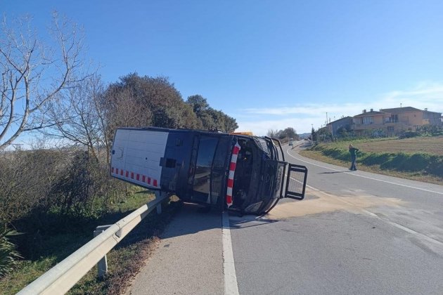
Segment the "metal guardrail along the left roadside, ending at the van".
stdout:
<svg viewBox="0 0 443 295">
<path fill-rule="evenodd" d="M 153 201 L 141 206 L 117 221 L 117 223 L 110 225 L 107 230 L 104 230 L 100 235 L 84 244 L 83 247 L 60 261 L 37 280 L 23 288 L 18 294 L 65 294 L 134 229 L 150 211 L 161 206 L 161 202 L 168 197 L 168 195 L 160 195 L 160 193 L 156 196 Z M 161 209 L 158 209 L 158 212 L 160 211 Z"/>
</svg>

